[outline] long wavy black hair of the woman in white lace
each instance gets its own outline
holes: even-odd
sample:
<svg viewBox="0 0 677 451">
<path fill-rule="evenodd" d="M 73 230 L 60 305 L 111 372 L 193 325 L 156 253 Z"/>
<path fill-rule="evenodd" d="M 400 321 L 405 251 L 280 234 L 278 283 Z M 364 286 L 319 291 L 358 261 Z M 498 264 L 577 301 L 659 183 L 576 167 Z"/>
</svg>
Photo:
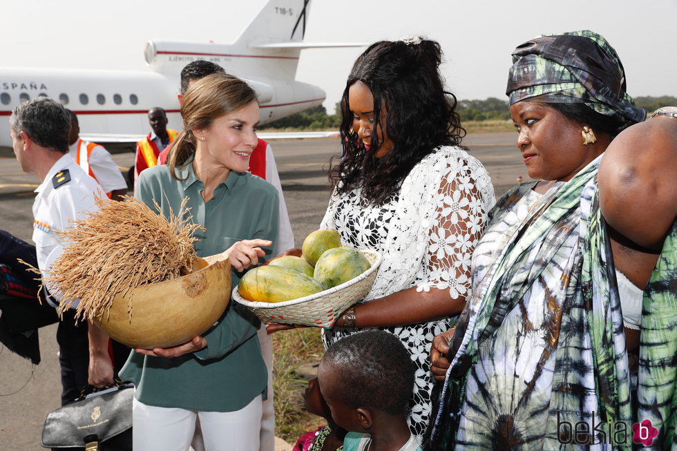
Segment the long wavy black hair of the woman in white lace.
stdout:
<svg viewBox="0 0 677 451">
<path fill-rule="evenodd" d="M 338 193 L 359 188 L 370 204 L 383 204 L 426 155 L 439 146 L 461 143 L 466 131 L 456 112 L 455 95 L 444 90 L 441 59 L 437 42 L 419 38 L 379 41 L 356 59 L 341 99 L 343 159 L 332 162 L 329 173 Z M 357 81 L 368 86 L 374 97 L 370 150 L 353 129 L 348 91 Z M 376 158 L 383 126 L 393 146 Z"/>
</svg>

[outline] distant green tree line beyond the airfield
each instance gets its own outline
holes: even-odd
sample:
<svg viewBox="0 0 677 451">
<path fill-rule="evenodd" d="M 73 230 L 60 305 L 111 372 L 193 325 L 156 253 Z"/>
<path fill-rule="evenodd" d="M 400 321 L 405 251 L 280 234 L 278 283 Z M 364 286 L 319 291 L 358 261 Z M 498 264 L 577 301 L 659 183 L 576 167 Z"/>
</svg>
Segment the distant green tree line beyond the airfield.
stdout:
<svg viewBox="0 0 677 451">
<path fill-rule="evenodd" d="M 677 97 L 663 95 L 661 97 L 640 96 L 635 97 L 635 104 L 644 108 L 648 113 L 653 113 L 661 106 L 677 105 Z M 484 100 L 466 100 L 461 99 L 457 103 L 457 112 L 462 122 L 468 121 L 487 121 L 487 120 L 508 120 L 510 111 L 508 111 L 508 101 L 488 97 Z M 292 128 L 299 131 L 316 130 L 336 130 L 341 125 L 341 107 L 337 103 L 333 114 L 327 114 L 324 106 L 309 108 L 301 113 L 289 115 L 269 122 L 260 127 L 265 129 L 286 129 Z"/>
</svg>

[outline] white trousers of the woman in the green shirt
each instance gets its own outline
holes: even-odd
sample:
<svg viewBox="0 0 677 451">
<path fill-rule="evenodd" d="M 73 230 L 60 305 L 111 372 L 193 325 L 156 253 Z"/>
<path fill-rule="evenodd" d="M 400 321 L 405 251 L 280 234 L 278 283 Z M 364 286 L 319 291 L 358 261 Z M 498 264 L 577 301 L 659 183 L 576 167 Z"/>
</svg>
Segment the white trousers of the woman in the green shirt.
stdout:
<svg viewBox="0 0 677 451">
<path fill-rule="evenodd" d="M 133 401 L 134 451 L 187 451 L 200 418 L 207 451 L 258 451 L 261 395 L 235 412 L 196 412 Z"/>
</svg>

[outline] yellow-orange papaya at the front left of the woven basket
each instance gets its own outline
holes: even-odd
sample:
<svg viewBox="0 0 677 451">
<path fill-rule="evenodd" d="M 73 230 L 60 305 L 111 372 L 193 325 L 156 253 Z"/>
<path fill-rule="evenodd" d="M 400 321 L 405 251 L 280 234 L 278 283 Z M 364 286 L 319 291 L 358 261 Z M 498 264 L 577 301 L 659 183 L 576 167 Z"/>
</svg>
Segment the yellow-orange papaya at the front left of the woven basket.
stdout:
<svg viewBox="0 0 677 451">
<path fill-rule="evenodd" d="M 281 303 L 324 289 L 324 285 L 310 276 L 275 265 L 251 269 L 238 284 L 242 298 L 260 303 Z"/>
</svg>

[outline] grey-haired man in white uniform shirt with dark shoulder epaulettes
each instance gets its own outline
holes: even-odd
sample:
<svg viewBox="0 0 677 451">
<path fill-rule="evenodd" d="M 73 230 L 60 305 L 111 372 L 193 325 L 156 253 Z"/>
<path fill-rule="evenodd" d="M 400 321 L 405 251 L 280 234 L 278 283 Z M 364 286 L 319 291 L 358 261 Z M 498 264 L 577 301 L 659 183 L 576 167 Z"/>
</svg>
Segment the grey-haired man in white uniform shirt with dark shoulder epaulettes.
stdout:
<svg viewBox="0 0 677 451">
<path fill-rule="evenodd" d="M 33 203 L 33 241 L 43 276 L 64 250 L 57 236 L 95 208 L 101 188 L 68 154 L 70 117 L 66 108 L 47 97 L 37 97 L 17 106 L 10 116 L 12 146 L 21 169 L 37 175 L 41 184 Z M 58 291 L 45 288 L 51 305 L 57 306 Z M 87 383 L 105 387 L 113 383 L 113 365 L 108 356 L 108 336 L 93 323 L 75 323 L 75 311 L 63 312 L 57 329 L 61 364 L 61 404 L 77 398 Z"/>
</svg>

